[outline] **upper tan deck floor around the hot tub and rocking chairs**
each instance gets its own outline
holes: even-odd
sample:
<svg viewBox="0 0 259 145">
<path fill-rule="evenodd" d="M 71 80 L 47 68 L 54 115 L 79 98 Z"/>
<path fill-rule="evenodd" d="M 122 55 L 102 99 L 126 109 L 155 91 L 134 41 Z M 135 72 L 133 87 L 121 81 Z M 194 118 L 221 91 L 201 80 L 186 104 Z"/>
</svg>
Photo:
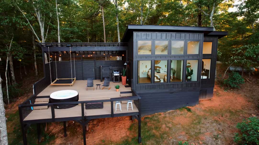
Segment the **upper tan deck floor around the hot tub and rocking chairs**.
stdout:
<svg viewBox="0 0 259 145">
<path fill-rule="evenodd" d="M 56 91 L 61 91 L 61 90 L 75 90 L 79 94 L 79 101 L 90 101 L 90 100 L 105 100 L 110 98 L 118 98 L 121 96 L 120 92 L 131 91 L 131 87 L 125 87 L 124 85 L 122 85 L 122 82 L 115 82 L 115 83 L 110 82 L 110 86 L 111 86 L 110 90 L 108 90 L 108 87 L 105 87 L 102 90 L 103 82 L 100 82 L 100 80 L 93 80 L 95 90 L 93 90 L 93 87 L 90 87 L 90 88 L 88 87 L 88 90 L 86 90 L 86 84 L 87 84 L 87 80 L 76 80 L 74 85 L 72 86 L 49 85 L 37 96 L 49 96 L 51 93 Z M 100 90 L 99 90 L 99 86 L 96 89 L 96 84 L 101 84 Z M 116 92 L 116 89 L 114 88 L 115 85 L 120 85 L 119 92 Z M 131 95 L 128 95 L 128 96 L 131 96 Z"/>
</svg>

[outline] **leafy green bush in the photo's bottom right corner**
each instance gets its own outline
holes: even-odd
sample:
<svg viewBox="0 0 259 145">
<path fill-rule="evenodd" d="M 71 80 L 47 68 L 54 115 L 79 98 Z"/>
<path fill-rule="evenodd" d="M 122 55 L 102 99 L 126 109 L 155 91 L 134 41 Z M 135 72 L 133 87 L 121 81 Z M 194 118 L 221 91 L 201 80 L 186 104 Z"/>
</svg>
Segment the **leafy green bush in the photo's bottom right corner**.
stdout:
<svg viewBox="0 0 259 145">
<path fill-rule="evenodd" d="M 238 123 L 236 127 L 240 133 L 235 133 L 234 141 L 238 144 L 259 144 L 259 119 L 250 117 L 248 120 Z"/>
</svg>

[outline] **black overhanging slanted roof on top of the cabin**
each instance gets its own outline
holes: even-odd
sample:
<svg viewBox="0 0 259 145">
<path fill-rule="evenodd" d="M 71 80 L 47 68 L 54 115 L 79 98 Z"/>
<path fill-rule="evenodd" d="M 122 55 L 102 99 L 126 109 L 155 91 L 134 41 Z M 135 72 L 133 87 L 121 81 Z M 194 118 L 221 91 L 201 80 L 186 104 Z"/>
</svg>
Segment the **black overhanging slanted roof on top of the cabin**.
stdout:
<svg viewBox="0 0 259 145">
<path fill-rule="evenodd" d="M 213 31 L 213 27 L 195 27 L 195 26 L 160 26 L 160 25 L 128 25 L 123 35 L 122 42 L 127 42 L 133 31 L 149 31 L 149 32 L 191 32 L 204 33 L 204 36 L 217 36 L 218 32 Z M 209 35 L 211 32 L 213 34 Z M 220 33 L 219 38 L 227 35 L 227 32 Z"/>
</svg>

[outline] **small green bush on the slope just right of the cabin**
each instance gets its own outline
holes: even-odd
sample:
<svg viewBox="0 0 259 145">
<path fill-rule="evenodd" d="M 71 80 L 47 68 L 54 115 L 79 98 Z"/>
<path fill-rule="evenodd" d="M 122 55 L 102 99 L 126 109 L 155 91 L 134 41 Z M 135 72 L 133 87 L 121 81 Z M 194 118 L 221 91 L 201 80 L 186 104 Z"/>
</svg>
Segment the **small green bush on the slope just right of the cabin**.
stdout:
<svg viewBox="0 0 259 145">
<path fill-rule="evenodd" d="M 240 88 L 240 84 L 244 83 L 244 79 L 242 78 L 239 73 L 232 71 L 231 74 L 229 74 L 228 79 L 225 79 L 223 84 L 227 86 L 227 89 L 229 88 Z"/>
</svg>

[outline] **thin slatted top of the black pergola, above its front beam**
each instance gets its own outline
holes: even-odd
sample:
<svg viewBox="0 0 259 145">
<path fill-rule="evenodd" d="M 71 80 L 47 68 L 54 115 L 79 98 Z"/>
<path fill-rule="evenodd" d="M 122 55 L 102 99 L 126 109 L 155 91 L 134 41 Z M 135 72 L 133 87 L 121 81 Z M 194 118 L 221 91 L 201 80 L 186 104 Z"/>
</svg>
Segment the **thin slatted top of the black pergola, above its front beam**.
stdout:
<svg viewBox="0 0 259 145">
<path fill-rule="evenodd" d="M 41 47 L 114 47 L 114 46 L 128 46 L 125 42 L 102 42 L 102 43 L 37 43 Z"/>
</svg>

